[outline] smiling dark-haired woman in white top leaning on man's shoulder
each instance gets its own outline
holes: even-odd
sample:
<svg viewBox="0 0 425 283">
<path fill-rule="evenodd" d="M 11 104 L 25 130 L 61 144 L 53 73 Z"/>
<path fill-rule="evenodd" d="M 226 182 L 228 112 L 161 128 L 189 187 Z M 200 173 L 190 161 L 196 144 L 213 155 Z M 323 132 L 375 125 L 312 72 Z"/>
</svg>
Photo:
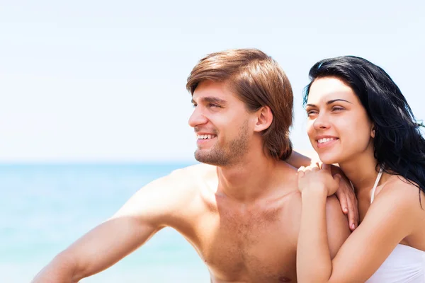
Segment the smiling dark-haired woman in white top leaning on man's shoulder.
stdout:
<svg viewBox="0 0 425 283">
<path fill-rule="evenodd" d="M 361 224 L 331 259 L 325 202 L 339 177 L 327 165 L 300 168 L 298 282 L 425 282 L 425 140 L 406 99 L 359 57 L 317 62 L 310 79 L 307 133 L 351 180 Z"/>
</svg>

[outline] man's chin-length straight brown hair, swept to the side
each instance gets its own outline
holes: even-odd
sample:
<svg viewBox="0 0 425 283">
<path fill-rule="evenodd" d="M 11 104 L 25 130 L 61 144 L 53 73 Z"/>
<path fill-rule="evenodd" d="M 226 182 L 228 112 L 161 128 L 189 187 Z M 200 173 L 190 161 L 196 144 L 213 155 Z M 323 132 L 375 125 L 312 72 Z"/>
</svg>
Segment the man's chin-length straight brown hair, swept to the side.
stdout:
<svg viewBox="0 0 425 283">
<path fill-rule="evenodd" d="M 226 50 L 208 54 L 191 71 L 186 88 L 193 92 L 202 81 L 225 82 L 251 112 L 268 106 L 270 127 L 261 134 L 264 148 L 273 158 L 292 153 L 289 127 L 293 121 L 293 91 L 278 63 L 256 49 Z"/>
</svg>

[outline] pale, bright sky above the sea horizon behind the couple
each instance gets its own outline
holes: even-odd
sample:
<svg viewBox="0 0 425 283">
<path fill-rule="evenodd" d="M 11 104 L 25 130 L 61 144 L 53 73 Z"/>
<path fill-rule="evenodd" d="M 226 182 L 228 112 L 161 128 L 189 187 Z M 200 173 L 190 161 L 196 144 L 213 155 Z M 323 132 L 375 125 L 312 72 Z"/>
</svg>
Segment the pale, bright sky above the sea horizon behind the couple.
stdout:
<svg viewBox="0 0 425 283">
<path fill-rule="evenodd" d="M 0 163 L 192 162 L 187 76 L 232 48 L 288 75 L 300 151 L 302 88 L 327 57 L 378 64 L 424 119 L 424 12 L 423 0 L 0 0 Z"/>
</svg>

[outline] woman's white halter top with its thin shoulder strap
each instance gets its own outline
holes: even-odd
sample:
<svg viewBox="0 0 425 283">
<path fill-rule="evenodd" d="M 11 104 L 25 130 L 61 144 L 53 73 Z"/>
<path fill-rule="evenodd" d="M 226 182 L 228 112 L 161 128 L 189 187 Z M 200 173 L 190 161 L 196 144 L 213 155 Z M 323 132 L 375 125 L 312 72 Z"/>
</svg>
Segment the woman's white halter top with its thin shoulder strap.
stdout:
<svg viewBox="0 0 425 283">
<path fill-rule="evenodd" d="M 370 203 L 382 176 L 382 168 L 373 185 Z M 398 244 L 367 283 L 425 283 L 425 252 Z"/>
</svg>

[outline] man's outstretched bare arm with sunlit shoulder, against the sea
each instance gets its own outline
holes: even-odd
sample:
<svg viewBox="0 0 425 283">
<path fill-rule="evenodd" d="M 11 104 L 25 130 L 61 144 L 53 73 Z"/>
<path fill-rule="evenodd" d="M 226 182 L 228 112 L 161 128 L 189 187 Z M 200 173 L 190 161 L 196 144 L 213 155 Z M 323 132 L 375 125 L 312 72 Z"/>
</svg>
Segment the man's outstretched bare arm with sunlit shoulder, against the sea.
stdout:
<svg viewBox="0 0 425 283">
<path fill-rule="evenodd" d="M 181 189 L 176 173 L 142 187 L 108 221 L 79 238 L 57 255 L 33 283 L 79 282 L 105 270 L 140 247 L 169 224 L 190 194 Z"/>
</svg>

